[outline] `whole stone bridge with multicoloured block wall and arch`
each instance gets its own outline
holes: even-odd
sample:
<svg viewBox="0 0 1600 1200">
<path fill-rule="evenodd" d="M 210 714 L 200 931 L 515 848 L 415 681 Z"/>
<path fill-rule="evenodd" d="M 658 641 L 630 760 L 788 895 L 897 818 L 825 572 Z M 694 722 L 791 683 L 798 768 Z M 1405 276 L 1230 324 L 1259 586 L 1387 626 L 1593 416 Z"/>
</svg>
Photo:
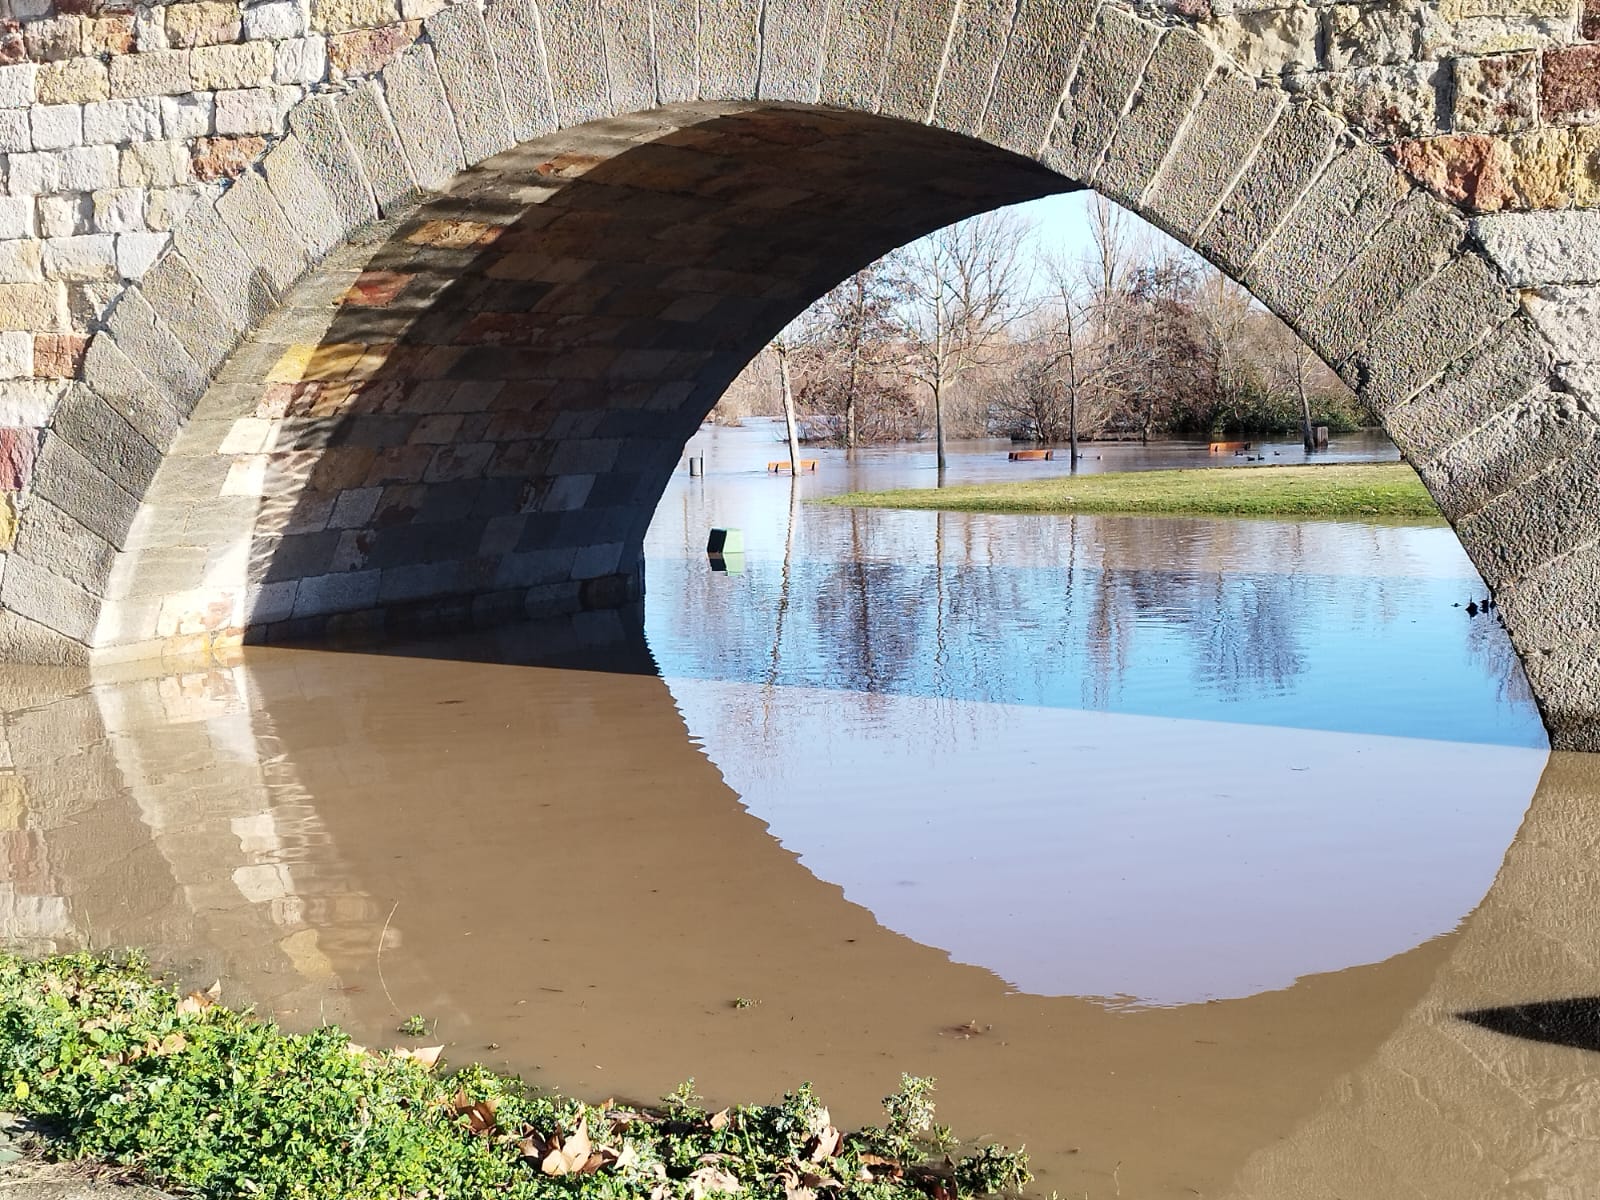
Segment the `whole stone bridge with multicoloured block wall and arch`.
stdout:
<svg viewBox="0 0 1600 1200">
<path fill-rule="evenodd" d="M 1094 187 L 1382 414 L 1600 749 L 1595 0 L 3 0 L 0 653 L 637 594 L 813 298 Z"/>
</svg>

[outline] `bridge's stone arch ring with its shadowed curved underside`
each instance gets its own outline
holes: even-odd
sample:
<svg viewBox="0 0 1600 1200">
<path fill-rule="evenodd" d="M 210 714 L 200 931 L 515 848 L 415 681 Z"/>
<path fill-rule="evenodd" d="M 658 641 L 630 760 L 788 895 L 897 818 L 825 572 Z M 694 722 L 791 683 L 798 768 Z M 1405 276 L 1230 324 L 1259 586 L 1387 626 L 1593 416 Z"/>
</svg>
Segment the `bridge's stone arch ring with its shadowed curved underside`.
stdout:
<svg viewBox="0 0 1600 1200">
<path fill-rule="evenodd" d="M 422 34 L 302 101 L 117 301 L 0 582 L 10 656 L 616 603 L 683 437 L 787 317 L 938 224 L 1096 187 L 1362 390 L 1552 736 L 1600 746 L 1590 402 L 1462 213 L 1328 110 L 1110 2 L 490 0 Z"/>
</svg>

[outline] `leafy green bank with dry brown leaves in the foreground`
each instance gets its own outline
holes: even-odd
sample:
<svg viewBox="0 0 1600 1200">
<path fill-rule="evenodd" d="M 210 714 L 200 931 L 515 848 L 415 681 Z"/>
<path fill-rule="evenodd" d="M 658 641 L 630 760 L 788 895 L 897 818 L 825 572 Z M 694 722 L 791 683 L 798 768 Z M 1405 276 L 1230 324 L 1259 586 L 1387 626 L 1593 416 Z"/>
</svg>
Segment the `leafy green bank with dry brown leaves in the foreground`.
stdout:
<svg viewBox="0 0 1600 1200">
<path fill-rule="evenodd" d="M 958 1157 L 928 1080 L 858 1133 L 808 1086 L 720 1112 L 691 1085 L 658 1107 L 584 1104 L 216 1000 L 138 958 L 0 955 L 0 1107 L 43 1157 L 216 1200 L 954 1200 L 1029 1181 L 1021 1154 Z"/>
</svg>

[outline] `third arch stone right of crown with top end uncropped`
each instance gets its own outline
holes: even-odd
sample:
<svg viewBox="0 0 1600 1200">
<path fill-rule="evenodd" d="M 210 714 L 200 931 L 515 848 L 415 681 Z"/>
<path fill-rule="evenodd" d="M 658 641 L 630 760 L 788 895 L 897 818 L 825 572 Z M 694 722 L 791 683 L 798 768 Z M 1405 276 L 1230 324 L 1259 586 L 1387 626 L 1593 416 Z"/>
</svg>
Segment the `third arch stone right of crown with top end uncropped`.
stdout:
<svg viewBox="0 0 1600 1200">
<path fill-rule="evenodd" d="M 1192 243 L 1216 213 L 1261 139 L 1283 96 L 1237 74 L 1206 86 L 1171 157 L 1146 198 L 1146 213 L 1173 237 Z"/>
</svg>

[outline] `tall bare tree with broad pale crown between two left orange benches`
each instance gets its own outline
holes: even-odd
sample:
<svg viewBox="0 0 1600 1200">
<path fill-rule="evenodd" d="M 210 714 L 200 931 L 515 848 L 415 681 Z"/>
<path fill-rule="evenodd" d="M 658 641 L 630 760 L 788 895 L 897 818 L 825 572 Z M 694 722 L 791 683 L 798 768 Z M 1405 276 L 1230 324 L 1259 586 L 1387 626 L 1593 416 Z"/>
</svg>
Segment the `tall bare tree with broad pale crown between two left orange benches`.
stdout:
<svg viewBox="0 0 1600 1200">
<path fill-rule="evenodd" d="M 933 395 L 939 470 L 946 395 L 973 368 L 1002 360 L 1006 333 L 1029 304 L 1029 234 L 1014 213 L 984 213 L 906 251 L 906 371 Z"/>
</svg>

